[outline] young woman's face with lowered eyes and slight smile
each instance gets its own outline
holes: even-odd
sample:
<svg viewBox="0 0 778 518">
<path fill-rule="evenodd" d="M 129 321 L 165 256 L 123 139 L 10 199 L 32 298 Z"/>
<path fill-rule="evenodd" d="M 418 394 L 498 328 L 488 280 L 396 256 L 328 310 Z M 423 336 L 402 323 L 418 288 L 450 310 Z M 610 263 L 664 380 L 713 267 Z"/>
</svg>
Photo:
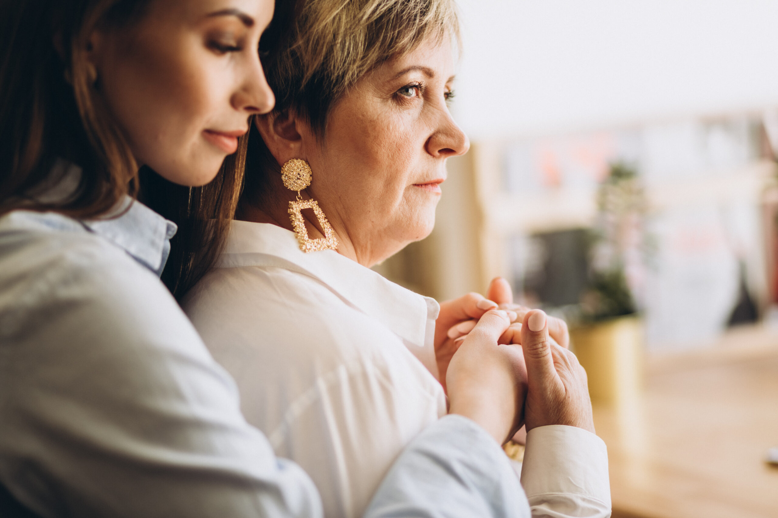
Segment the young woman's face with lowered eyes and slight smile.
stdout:
<svg viewBox="0 0 778 518">
<path fill-rule="evenodd" d="M 126 30 L 96 31 L 96 89 L 138 165 L 209 183 L 248 118 L 275 103 L 259 61 L 272 0 L 152 0 Z"/>
</svg>

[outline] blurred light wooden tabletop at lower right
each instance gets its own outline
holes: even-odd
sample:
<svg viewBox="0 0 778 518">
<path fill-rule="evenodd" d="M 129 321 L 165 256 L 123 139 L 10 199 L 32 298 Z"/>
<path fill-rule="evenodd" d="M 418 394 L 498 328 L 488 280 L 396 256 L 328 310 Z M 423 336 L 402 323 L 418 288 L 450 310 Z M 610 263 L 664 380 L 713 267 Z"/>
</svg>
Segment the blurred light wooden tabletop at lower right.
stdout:
<svg viewBox="0 0 778 518">
<path fill-rule="evenodd" d="M 652 356 L 646 374 L 639 399 L 594 409 L 613 517 L 778 517 L 778 468 L 764 462 L 778 446 L 778 330 Z"/>
</svg>

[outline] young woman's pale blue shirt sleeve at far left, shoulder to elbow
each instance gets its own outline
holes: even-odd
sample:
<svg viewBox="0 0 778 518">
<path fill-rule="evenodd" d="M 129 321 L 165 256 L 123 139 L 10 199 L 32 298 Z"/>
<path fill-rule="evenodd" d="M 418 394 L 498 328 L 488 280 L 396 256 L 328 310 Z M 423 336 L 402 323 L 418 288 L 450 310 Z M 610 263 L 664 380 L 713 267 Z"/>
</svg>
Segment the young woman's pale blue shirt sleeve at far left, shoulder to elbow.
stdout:
<svg viewBox="0 0 778 518">
<path fill-rule="evenodd" d="M 152 273 L 97 245 L 23 259 L 0 261 L 0 482 L 19 502 L 45 518 L 321 516 Z"/>
</svg>

